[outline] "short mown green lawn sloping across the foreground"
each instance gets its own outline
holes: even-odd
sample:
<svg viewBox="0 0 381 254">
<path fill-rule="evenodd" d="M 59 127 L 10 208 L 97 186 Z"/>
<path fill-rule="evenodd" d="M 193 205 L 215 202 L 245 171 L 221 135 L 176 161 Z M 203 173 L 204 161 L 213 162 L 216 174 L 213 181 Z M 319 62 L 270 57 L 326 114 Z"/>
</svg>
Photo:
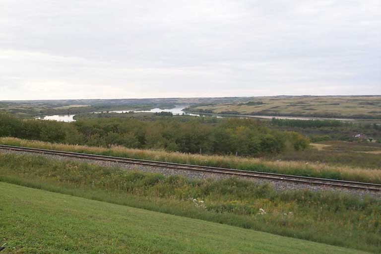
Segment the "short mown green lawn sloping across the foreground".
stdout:
<svg viewBox="0 0 381 254">
<path fill-rule="evenodd" d="M 6 253 L 361 253 L 0 183 Z"/>
</svg>

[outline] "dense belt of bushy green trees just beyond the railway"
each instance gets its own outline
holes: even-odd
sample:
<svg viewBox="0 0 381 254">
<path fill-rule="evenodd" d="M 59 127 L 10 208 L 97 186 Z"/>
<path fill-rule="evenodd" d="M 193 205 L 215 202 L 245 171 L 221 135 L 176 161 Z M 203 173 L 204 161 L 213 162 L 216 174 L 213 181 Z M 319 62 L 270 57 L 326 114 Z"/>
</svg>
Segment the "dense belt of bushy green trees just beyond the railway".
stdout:
<svg viewBox="0 0 381 254">
<path fill-rule="evenodd" d="M 73 123 L 20 120 L 0 115 L 0 136 L 110 147 L 164 149 L 186 153 L 260 156 L 305 149 L 309 140 L 293 131 L 270 129 L 253 119 L 205 121 L 162 117 L 152 121 L 85 118 Z"/>
</svg>

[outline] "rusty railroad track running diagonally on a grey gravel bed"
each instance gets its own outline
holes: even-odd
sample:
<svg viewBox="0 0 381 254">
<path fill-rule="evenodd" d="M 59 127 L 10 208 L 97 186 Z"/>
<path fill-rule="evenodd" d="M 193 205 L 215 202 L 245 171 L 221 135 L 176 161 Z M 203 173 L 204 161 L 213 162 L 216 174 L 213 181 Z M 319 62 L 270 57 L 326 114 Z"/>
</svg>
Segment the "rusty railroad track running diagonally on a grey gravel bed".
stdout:
<svg viewBox="0 0 381 254">
<path fill-rule="evenodd" d="M 139 160 L 139 159 L 130 159 L 130 158 L 122 158 L 122 157 L 55 151 L 55 150 L 10 146 L 10 145 L 0 145 L 0 149 L 22 151 L 22 152 L 33 152 L 33 153 L 40 153 L 40 154 L 51 154 L 51 155 L 100 160 L 100 161 L 112 161 L 112 162 L 119 162 L 119 163 L 138 164 L 138 165 L 145 165 L 145 166 L 151 166 L 151 167 L 171 168 L 171 169 L 177 169 L 177 170 L 197 171 L 202 173 L 223 174 L 223 175 L 230 175 L 230 176 L 237 176 L 237 177 L 259 178 L 259 179 L 265 179 L 269 181 L 291 182 L 291 183 L 304 184 L 304 185 L 317 185 L 317 186 L 327 186 L 327 187 L 329 186 L 329 187 L 335 187 L 335 188 L 345 188 L 345 189 L 354 189 L 354 190 L 381 191 L 381 185 L 371 184 L 371 183 L 360 183 L 360 182 L 302 177 L 302 176 L 293 176 L 293 175 L 263 173 L 263 172 L 256 172 L 256 171 L 244 171 L 244 170 L 237 170 L 237 169 L 177 164 L 177 163 L 169 163 L 169 162 Z"/>
</svg>

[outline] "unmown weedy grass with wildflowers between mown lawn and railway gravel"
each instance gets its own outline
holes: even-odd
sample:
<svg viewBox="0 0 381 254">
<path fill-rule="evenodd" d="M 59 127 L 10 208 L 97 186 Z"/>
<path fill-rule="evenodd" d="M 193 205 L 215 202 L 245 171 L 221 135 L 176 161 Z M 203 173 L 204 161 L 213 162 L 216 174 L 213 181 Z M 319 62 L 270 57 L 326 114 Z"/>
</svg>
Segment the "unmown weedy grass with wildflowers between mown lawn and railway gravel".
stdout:
<svg viewBox="0 0 381 254">
<path fill-rule="evenodd" d="M 238 179 L 188 180 L 13 154 L 0 154 L 0 182 L 328 245 L 381 250 L 381 201 L 367 196 L 278 192 Z"/>
</svg>

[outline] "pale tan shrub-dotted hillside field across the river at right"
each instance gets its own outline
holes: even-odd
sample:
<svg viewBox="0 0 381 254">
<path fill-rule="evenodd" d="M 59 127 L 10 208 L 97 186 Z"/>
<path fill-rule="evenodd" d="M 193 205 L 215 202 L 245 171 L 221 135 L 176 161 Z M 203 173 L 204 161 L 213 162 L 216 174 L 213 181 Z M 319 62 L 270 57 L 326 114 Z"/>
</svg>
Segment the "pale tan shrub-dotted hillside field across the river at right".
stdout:
<svg viewBox="0 0 381 254">
<path fill-rule="evenodd" d="M 244 103 L 194 105 L 191 112 L 238 115 L 381 119 L 381 96 L 256 97 Z"/>
</svg>

